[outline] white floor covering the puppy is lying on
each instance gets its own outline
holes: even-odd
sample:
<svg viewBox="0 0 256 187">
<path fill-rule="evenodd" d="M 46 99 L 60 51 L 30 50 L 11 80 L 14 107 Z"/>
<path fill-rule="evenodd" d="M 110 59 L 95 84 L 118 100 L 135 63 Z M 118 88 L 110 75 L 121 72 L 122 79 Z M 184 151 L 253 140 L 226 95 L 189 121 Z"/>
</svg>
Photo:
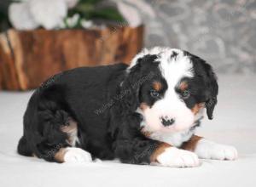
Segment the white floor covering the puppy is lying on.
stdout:
<svg viewBox="0 0 256 187">
<path fill-rule="evenodd" d="M 1 186 L 254 186 L 256 184 L 256 76 L 219 77 L 214 120 L 197 134 L 235 145 L 237 161 L 203 160 L 201 167 L 136 166 L 118 161 L 57 164 L 19 156 L 22 116 L 32 92 L 0 93 Z"/>
</svg>

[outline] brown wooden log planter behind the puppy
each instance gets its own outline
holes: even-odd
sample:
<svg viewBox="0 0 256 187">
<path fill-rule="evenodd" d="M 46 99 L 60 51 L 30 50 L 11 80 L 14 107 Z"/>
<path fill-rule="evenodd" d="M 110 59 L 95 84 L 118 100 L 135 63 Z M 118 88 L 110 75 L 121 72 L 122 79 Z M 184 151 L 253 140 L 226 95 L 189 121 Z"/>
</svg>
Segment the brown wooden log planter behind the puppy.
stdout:
<svg viewBox="0 0 256 187">
<path fill-rule="evenodd" d="M 143 26 L 103 30 L 9 30 L 0 35 L 0 89 L 37 88 L 79 66 L 130 64 L 143 47 Z"/>
</svg>

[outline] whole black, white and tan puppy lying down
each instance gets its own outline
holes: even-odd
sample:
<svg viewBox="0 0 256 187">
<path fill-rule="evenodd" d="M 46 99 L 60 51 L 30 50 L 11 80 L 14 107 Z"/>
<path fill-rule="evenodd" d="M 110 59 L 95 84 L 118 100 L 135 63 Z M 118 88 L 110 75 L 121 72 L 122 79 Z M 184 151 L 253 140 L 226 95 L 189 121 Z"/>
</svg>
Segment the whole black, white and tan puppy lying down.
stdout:
<svg viewBox="0 0 256 187">
<path fill-rule="evenodd" d="M 130 66 L 64 71 L 32 94 L 18 152 L 46 161 L 117 158 L 166 167 L 234 160 L 234 147 L 195 135 L 205 109 L 212 119 L 217 95 L 211 65 L 175 48 L 144 49 Z"/>
</svg>

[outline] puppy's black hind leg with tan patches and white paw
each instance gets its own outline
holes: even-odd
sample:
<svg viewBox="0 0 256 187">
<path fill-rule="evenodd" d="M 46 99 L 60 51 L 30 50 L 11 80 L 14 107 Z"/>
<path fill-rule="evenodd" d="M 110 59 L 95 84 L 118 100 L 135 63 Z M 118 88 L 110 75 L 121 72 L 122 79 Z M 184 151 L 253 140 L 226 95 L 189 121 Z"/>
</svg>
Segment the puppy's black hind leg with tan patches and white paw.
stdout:
<svg viewBox="0 0 256 187">
<path fill-rule="evenodd" d="M 78 125 L 61 105 L 44 100 L 39 105 L 38 122 L 35 156 L 57 162 L 91 161 L 90 153 L 74 147 L 79 142 Z"/>
</svg>

